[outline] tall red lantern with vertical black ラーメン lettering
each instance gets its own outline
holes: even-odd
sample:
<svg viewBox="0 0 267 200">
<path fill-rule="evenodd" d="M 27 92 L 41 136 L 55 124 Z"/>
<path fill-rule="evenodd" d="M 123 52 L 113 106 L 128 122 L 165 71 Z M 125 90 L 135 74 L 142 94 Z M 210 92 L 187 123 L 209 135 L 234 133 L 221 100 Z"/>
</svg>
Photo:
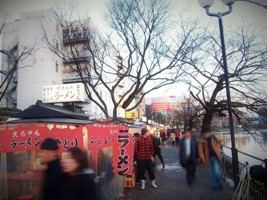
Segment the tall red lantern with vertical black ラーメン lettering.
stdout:
<svg viewBox="0 0 267 200">
<path fill-rule="evenodd" d="M 134 139 L 130 133 L 116 133 L 112 148 L 113 173 L 126 175 L 133 171 Z"/>
</svg>

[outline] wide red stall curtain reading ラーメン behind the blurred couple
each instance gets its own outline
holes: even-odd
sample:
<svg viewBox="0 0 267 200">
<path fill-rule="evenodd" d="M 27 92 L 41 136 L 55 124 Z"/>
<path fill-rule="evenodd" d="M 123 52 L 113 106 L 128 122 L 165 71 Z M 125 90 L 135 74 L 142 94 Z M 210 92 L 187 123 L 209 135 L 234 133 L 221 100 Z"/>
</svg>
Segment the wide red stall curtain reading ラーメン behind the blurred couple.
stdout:
<svg viewBox="0 0 267 200">
<path fill-rule="evenodd" d="M 56 126 L 56 125 L 54 125 Z M 58 151 L 65 152 L 69 148 L 77 146 L 84 150 L 82 127 L 76 129 L 51 130 L 47 126 L 35 127 L 32 123 L 30 127 L 18 125 L 14 130 L 0 131 L 0 153 L 25 150 L 41 150 L 40 146 L 45 138 L 53 138 L 58 142 Z"/>
</svg>

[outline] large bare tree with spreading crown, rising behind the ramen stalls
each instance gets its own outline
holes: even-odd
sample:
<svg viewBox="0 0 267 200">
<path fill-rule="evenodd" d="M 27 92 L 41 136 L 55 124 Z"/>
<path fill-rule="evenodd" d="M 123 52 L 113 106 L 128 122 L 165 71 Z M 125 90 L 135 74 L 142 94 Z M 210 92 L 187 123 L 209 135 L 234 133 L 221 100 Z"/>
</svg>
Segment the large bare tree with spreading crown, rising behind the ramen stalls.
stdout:
<svg viewBox="0 0 267 200">
<path fill-rule="evenodd" d="M 171 6 L 166 1 L 109 1 L 103 13 L 110 30 L 107 35 L 102 35 L 90 19 L 82 19 L 74 3 L 64 6 L 64 9 L 58 4 L 55 7 L 57 23 L 63 33 L 53 36 L 52 42 L 49 37 L 53 33 L 43 27 L 46 46 L 62 58 L 67 71 L 83 81 L 88 98 L 107 118 L 107 104 L 99 87 L 111 95 L 113 117 L 119 105 L 126 111 L 133 110 L 147 93 L 175 82 L 183 73 L 178 70 L 169 75 L 174 67 L 183 65 L 176 57 L 184 57 L 195 45 L 189 43 L 192 31 L 181 35 L 181 48 L 176 49 L 175 58 L 166 60 L 164 55 L 170 45 L 166 40 L 172 27 Z M 78 37 L 78 33 L 82 35 Z M 63 42 L 57 44 L 55 41 L 61 41 L 62 34 Z M 190 48 L 182 49 L 183 45 Z M 129 81 L 130 87 L 117 98 L 116 91 L 124 81 Z M 151 88 L 131 106 L 147 83 L 152 84 Z"/>
</svg>

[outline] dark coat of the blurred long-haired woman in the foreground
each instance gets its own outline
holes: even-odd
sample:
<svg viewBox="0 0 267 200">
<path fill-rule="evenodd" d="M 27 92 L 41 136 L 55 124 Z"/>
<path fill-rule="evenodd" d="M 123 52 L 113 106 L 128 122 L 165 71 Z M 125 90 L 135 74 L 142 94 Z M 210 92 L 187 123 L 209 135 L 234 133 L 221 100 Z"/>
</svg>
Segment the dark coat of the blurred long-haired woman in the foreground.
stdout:
<svg viewBox="0 0 267 200">
<path fill-rule="evenodd" d="M 62 181 L 60 198 L 64 200 L 97 199 L 95 185 L 92 180 L 93 171 L 85 170 L 83 173 L 67 176 Z"/>
</svg>

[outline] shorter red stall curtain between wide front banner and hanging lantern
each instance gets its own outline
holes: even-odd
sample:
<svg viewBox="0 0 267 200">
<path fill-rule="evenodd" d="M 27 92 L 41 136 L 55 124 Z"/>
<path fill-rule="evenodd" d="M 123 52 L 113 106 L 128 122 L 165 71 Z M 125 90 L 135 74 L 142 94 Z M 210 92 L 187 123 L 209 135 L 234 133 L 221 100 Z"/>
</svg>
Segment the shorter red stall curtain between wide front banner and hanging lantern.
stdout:
<svg viewBox="0 0 267 200">
<path fill-rule="evenodd" d="M 97 127 L 86 126 L 88 131 L 88 150 L 97 150 L 104 147 L 113 146 L 114 137 L 120 130 L 129 129 L 128 127 Z"/>
</svg>

